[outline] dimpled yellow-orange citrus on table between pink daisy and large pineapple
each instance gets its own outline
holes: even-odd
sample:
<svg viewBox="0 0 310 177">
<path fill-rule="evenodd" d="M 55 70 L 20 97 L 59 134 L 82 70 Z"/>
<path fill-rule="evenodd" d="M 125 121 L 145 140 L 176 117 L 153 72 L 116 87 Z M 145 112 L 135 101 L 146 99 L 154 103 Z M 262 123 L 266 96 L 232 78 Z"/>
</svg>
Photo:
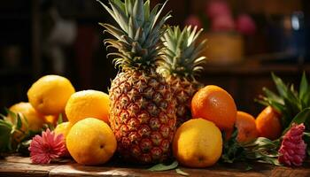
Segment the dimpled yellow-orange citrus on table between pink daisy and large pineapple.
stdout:
<svg viewBox="0 0 310 177">
<path fill-rule="evenodd" d="M 74 160 L 82 165 L 104 164 L 116 150 L 112 129 L 102 120 L 82 119 L 66 135 L 66 147 Z"/>
</svg>

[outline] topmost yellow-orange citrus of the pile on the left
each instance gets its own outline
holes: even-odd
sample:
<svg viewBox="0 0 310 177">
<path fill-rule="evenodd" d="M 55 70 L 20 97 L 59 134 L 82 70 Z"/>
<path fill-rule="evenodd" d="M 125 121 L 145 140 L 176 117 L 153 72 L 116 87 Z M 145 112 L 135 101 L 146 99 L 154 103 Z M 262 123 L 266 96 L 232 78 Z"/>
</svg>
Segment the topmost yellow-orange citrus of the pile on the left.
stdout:
<svg viewBox="0 0 310 177">
<path fill-rule="evenodd" d="M 44 115 L 64 112 L 66 102 L 75 92 L 73 85 L 65 77 L 45 75 L 28 89 L 30 104 Z"/>
</svg>

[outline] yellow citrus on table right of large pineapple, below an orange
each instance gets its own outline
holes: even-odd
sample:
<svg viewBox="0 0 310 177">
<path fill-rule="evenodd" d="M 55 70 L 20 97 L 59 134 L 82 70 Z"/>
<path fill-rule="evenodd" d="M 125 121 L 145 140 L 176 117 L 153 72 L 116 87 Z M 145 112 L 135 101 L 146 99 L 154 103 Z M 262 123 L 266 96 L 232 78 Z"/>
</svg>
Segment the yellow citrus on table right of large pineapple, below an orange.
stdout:
<svg viewBox="0 0 310 177">
<path fill-rule="evenodd" d="M 221 158 L 221 130 L 205 119 L 190 119 L 176 130 L 174 157 L 189 167 L 214 165 Z"/>
</svg>

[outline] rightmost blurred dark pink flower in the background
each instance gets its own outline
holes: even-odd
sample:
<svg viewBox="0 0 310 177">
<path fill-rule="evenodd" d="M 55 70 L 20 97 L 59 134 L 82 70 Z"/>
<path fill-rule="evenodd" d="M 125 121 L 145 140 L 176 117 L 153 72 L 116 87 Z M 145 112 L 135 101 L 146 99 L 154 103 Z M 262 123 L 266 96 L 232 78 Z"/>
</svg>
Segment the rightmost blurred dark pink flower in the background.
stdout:
<svg viewBox="0 0 310 177">
<path fill-rule="evenodd" d="M 249 15 L 241 14 L 236 19 L 236 30 L 244 35 L 253 35 L 256 31 L 256 25 Z"/>
</svg>

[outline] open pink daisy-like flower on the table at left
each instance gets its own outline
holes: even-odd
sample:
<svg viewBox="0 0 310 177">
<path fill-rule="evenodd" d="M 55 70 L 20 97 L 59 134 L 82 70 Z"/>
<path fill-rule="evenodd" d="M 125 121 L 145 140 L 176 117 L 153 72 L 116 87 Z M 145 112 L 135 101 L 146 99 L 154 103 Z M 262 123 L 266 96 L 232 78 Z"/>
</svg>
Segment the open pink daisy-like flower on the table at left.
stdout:
<svg viewBox="0 0 310 177">
<path fill-rule="evenodd" d="M 56 135 L 47 129 L 42 136 L 35 135 L 28 150 L 33 163 L 49 164 L 52 159 L 66 155 L 64 135 Z"/>
</svg>

